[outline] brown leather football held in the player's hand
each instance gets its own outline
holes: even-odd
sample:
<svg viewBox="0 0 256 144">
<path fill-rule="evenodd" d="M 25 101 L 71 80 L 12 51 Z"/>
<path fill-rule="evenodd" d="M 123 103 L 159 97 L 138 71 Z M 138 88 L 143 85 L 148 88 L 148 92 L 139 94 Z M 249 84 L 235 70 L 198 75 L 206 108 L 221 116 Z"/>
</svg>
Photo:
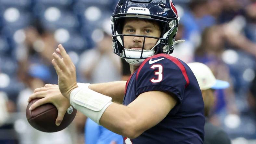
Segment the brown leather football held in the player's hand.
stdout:
<svg viewBox="0 0 256 144">
<path fill-rule="evenodd" d="M 29 102 L 26 110 L 26 116 L 29 124 L 37 130 L 48 133 L 63 130 L 70 125 L 76 116 L 77 110 L 71 106 L 64 115 L 61 124 L 56 126 L 55 121 L 58 116 L 58 110 L 52 103 L 46 103 L 32 111 L 29 110 L 29 107 L 37 100 L 39 99 L 34 99 Z"/>
</svg>

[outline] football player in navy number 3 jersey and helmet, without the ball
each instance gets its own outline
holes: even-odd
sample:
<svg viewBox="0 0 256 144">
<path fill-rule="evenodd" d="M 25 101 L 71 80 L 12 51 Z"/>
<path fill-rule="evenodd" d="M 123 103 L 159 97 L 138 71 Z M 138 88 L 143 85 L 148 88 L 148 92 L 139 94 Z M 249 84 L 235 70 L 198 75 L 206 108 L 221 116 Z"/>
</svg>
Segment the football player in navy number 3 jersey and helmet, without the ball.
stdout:
<svg viewBox="0 0 256 144">
<path fill-rule="evenodd" d="M 59 125 L 71 104 L 122 135 L 126 144 L 202 144 L 205 118 L 198 82 L 183 61 L 169 56 L 178 19 L 172 0 L 120 0 L 111 17 L 113 49 L 130 64 L 129 80 L 77 83 L 75 66 L 58 45 L 52 63 L 60 92 L 53 93 L 57 86 L 51 84 L 36 89 L 29 101 L 43 99 L 30 110 L 53 103 Z"/>
</svg>

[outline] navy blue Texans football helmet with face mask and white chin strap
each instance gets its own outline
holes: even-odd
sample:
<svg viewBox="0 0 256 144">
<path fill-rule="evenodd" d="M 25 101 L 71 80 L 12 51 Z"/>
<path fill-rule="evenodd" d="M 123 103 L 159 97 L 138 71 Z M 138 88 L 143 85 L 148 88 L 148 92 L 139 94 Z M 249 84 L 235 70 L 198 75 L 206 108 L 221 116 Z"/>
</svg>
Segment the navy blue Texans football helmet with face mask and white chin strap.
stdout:
<svg viewBox="0 0 256 144">
<path fill-rule="evenodd" d="M 156 45 L 151 50 L 144 50 L 144 43 L 142 50 L 124 48 L 123 37 L 134 36 L 122 34 L 124 18 L 157 21 L 162 30 L 159 38 L 136 35 L 136 37 L 144 37 L 144 42 L 146 38 L 158 39 Z M 114 53 L 135 66 L 139 66 L 147 57 L 155 54 L 171 54 L 178 30 L 178 19 L 177 9 L 172 0 L 120 0 L 111 17 Z"/>
</svg>

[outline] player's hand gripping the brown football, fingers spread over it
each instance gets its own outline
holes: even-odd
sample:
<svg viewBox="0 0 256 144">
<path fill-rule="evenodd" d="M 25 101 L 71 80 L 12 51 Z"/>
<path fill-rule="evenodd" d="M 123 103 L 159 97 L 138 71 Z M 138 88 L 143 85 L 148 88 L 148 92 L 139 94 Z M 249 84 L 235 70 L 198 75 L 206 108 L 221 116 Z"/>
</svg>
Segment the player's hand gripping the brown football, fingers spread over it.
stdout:
<svg viewBox="0 0 256 144">
<path fill-rule="evenodd" d="M 70 102 L 61 94 L 58 85 L 46 84 L 45 87 L 35 89 L 28 102 L 36 98 L 40 98 L 40 100 L 33 103 L 30 110 L 34 110 L 45 103 L 52 103 L 58 109 L 56 125 L 59 126 L 67 109 L 70 107 Z"/>
</svg>

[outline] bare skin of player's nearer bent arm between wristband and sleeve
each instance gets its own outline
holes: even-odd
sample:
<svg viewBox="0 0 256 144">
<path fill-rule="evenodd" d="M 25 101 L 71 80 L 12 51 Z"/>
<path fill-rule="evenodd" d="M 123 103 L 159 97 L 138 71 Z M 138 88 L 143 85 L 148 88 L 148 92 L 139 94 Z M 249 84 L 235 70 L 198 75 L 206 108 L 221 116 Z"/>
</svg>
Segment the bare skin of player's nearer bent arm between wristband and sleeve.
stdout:
<svg viewBox="0 0 256 144">
<path fill-rule="evenodd" d="M 117 134 L 134 139 L 162 121 L 176 103 L 177 98 L 173 94 L 148 91 L 127 106 L 110 104 L 99 123 Z"/>
</svg>

